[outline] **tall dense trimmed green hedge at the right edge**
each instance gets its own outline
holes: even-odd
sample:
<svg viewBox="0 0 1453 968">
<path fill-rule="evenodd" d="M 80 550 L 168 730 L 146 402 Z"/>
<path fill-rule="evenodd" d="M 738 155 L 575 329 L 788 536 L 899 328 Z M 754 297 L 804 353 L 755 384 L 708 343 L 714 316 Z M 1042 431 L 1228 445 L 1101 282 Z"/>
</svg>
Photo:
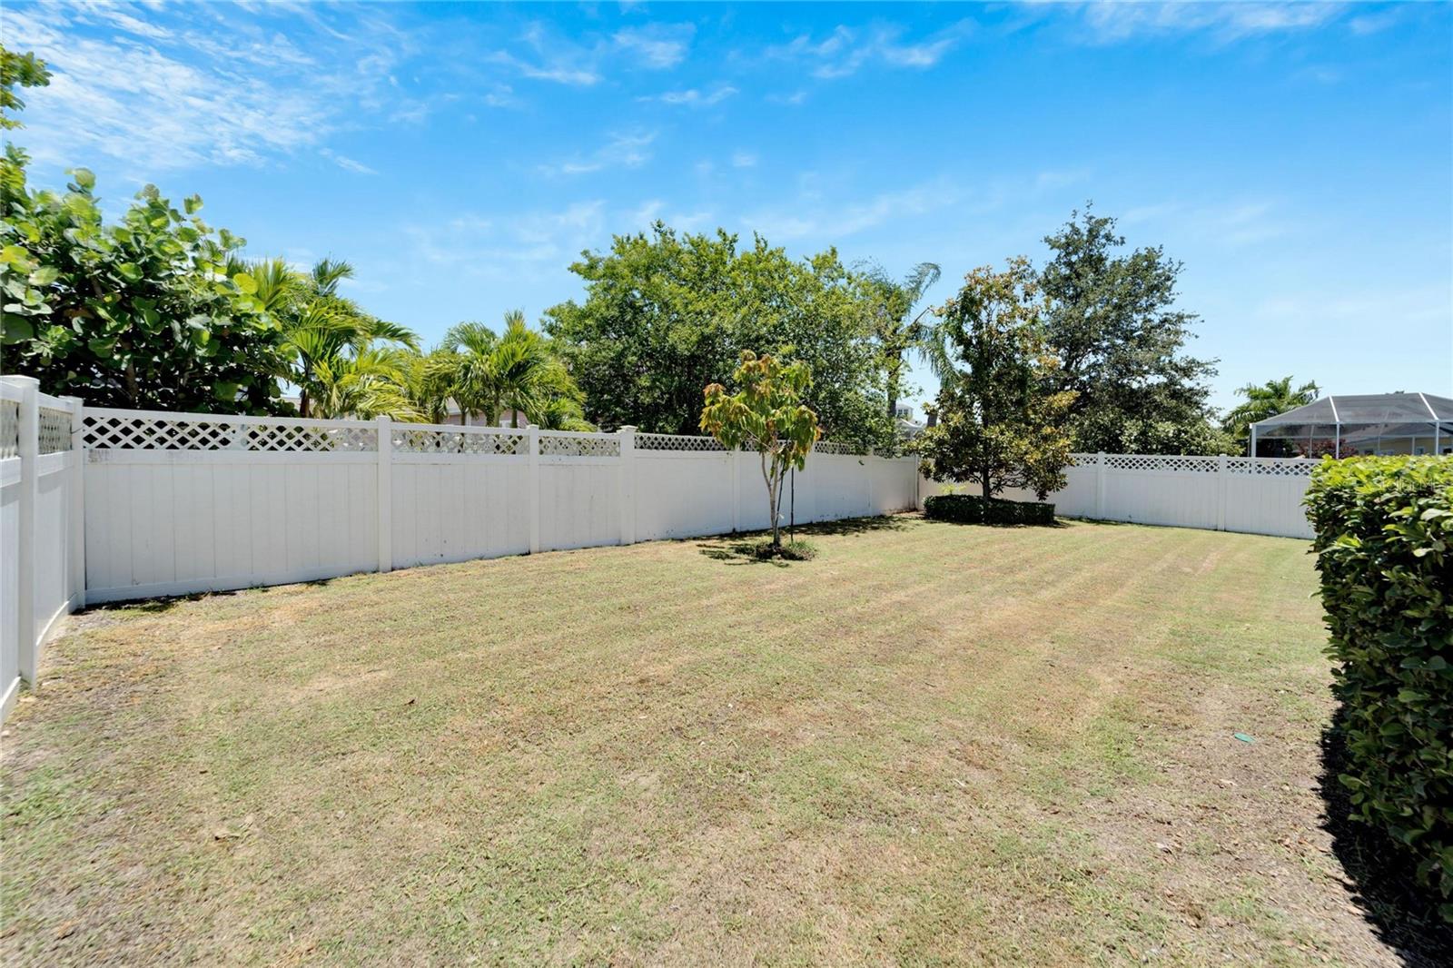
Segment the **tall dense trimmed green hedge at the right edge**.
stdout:
<svg viewBox="0 0 1453 968">
<path fill-rule="evenodd" d="M 1453 920 L 1453 458 L 1324 461 L 1306 493 L 1353 815 Z"/>
</svg>

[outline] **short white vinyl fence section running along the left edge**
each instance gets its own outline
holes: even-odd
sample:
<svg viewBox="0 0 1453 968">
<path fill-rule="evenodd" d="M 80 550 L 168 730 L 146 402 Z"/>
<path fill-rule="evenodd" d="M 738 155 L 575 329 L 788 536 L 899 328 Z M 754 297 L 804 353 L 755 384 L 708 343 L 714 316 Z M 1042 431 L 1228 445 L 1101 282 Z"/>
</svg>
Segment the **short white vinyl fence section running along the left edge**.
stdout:
<svg viewBox="0 0 1453 968">
<path fill-rule="evenodd" d="M 33 379 L 0 379 L 0 719 L 61 616 L 86 603 L 80 411 Z"/>
</svg>

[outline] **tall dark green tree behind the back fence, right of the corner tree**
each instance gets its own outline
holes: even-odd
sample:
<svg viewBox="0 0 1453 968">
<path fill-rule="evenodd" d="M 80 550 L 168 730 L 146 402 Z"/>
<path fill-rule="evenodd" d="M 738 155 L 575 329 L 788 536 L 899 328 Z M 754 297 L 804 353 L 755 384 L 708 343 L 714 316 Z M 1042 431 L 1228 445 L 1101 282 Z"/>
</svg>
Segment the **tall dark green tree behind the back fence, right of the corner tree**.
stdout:
<svg viewBox="0 0 1453 968">
<path fill-rule="evenodd" d="M 1215 362 L 1186 355 L 1194 312 L 1177 308 L 1181 263 L 1158 247 L 1125 251 L 1116 221 L 1075 212 L 1045 238 L 1039 273 L 1058 388 L 1075 392 L 1078 451 L 1196 453 L 1225 446 L 1206 381 Z"/>
</svg>

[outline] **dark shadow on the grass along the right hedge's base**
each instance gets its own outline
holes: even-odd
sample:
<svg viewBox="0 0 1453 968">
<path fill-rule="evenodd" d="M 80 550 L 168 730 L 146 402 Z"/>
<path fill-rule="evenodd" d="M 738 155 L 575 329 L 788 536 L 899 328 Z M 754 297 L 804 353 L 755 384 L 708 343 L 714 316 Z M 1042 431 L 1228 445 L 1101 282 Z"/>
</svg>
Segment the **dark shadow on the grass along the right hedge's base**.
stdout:
<svg viewBox="0 0 1453 968">
<path fill-rule="evenodd" d="M 1353 903 L 1405 965 L 1450 965 L 1453 924 L 1438 917 L 1437 892 L 1418 885 L 1415 865 L 1385 833 L 1350 817 L 1347 788 L 1337 779 L 1347 770 L 1344 719 L 1345 709 L 1338 706 L 1322 733 L 1322 827 L 1332 834 L 1332 853 L 1353 884 Z"/>
</svg>

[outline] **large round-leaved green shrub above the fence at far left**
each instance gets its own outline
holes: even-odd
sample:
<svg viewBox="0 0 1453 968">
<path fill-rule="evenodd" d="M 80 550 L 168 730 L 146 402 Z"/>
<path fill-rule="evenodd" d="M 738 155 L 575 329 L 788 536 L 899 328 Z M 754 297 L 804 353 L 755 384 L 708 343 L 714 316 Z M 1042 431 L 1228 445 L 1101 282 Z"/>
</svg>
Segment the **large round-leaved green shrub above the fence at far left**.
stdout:
<svg viewBox="0 0 1453 968">
<path fill-rule="evenodd" d="M 108 225 L 96 179 L 62 195 L 0 161 L 0 289 L 7 369 L 100 407 L 269 413 L 280 333 L 234 281 L 243 240 L 214 231 L 190 196 L 179 211 L 144 187 Z"/>
</svg>

